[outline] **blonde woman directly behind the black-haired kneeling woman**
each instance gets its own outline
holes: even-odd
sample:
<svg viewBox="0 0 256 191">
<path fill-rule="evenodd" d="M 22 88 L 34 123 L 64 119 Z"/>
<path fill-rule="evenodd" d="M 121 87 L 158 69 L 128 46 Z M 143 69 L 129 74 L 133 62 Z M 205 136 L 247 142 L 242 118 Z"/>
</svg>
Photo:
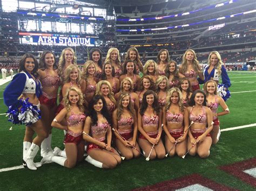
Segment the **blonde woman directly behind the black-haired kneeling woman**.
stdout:
<svg viewBox="0 0 256 191">
<path fill-rule="evenodd" d="M 116 100 L 114 100 L 114 94 L 110 83 L 106 80 L 99 81 L 97 83 L 95 95 L 102 95 L 106 101 L 106 107 L 110 116 L 114 109 L 116 109 Z"/>
</svg>

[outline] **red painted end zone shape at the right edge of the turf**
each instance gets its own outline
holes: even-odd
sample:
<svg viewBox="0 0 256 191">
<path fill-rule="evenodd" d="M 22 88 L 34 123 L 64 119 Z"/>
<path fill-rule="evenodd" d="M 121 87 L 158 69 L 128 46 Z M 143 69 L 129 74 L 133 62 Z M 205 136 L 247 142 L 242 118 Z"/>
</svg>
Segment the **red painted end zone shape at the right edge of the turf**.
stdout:
<svg viewBox="0 0 256 191">
<path fill-rule="evenodd" d="M 232 174 L 233 176 L 237 176 L 237 178 L 248 183 L 249 185 L 256 187 L 256 179 L 253 176 L 243 172 L 244 170 L 255 168 L 255 167 L 256 167 L 256 158 L 241 161 L 241 162 L 236 162 L 232 165 L 221 166 L 219 168 L 227 173 Z"/>
</svg>

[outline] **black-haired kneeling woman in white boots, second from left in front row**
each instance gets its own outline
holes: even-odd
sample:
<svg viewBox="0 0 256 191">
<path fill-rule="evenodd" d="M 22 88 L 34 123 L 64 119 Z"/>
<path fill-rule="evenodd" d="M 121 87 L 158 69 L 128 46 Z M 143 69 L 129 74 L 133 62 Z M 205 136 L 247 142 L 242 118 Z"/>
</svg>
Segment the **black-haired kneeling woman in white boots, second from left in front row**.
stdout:
<svg viewBox="0 0 256 191">
<path fill-rule="evenodd" d="M 83 132 L 83 138 L 89 143 L 86 150 L 89 156 L 85 160 L 99 168 L 114 168 L 120 164 L 121 157 L 111 147 L 111 118 L 104 97 L 94 96 L 89 108 Z"/>
</svg>

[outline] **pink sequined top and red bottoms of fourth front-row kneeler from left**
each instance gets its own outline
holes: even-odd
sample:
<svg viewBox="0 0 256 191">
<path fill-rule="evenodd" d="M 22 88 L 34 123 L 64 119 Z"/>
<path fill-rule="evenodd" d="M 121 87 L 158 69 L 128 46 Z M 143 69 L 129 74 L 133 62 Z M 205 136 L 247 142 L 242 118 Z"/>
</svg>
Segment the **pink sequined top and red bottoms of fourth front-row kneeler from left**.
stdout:
<svg viewBox="0 0 256 191">
<path fill-rule="evenodd" d="M 143 128 L 146 128 L 147 126 L 154 126 L 155 128 L 158 128 L 158 121 L 159 117 L 158 115 L 154 116 L 146 116 L 145 114 L 142 116 L 142 126 Z M 157 138 L 158 131 L 153 132 L 147 132 L 147 135 L 151 138 Z M 139 139 L 146 139 L 141 133 L 139 135 Z"/>
</svg>

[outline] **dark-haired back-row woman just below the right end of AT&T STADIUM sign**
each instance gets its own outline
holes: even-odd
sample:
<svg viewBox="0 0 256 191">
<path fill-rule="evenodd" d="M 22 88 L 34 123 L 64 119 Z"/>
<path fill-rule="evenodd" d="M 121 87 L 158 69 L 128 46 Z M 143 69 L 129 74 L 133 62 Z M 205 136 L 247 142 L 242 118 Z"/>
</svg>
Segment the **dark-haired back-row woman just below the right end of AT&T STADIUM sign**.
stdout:
<svg viewBox="0 0 256 191">
<path fill-rule="evenodd" d="M 99 48 L 92 48 L 89 53 L 89 60 L 92 60 L 95 64 L 95 78 L 98 82 L 102 77 L 102 51 Z"/>
</svg>

